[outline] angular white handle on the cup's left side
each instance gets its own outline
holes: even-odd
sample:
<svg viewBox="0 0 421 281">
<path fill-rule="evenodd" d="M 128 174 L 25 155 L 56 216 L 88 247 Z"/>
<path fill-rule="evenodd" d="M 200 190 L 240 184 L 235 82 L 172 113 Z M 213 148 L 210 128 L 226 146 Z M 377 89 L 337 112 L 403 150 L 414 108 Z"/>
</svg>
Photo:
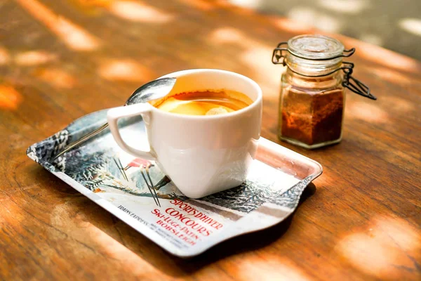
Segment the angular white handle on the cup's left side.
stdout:
<svg viewBox="0 0 421 281">
<path fill-rule="evenodd" d="M 156 160 L 156 157 L 150 151 L 138 150 L 123 141 L 117 122 L 122 117 L 131 117 L 136 115 L 142 115 L 142 117 L 145 119 L 145 117 L 150 115 L 151 110 L 152 105 L 149 105 L 149 103 L 137 103 L 135 105 L 114 107 L 107 112 L 109 129 L 111 130 L 112 136 L 114 137 L 114 140 L 119 145 L 119 147 L 131 155 L 140 157 L 145 160 Z"/>
</svg>

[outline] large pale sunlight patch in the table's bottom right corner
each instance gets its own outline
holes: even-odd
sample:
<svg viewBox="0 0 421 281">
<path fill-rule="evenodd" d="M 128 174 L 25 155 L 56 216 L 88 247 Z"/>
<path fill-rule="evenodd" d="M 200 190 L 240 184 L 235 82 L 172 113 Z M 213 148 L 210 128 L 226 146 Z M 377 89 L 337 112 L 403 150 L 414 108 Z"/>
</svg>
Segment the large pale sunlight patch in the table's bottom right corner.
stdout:
<svg viewBox="0 0 421 281">
<path fill-rule="evenodd" d="M 363 230 L 342 237 L 335 251 L 363 273 L 396 280 L 401 268 L 407 268 L 407 272 L 417 270 L 420 238 L 408 222 L 382 216 L 371 220 Z"/>
</svg>

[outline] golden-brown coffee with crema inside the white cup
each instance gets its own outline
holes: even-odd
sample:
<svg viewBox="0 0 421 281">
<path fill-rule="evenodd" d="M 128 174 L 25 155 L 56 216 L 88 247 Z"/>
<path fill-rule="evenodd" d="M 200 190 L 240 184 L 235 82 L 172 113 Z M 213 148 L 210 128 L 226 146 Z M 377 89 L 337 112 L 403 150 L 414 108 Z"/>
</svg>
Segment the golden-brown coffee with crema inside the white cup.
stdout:
<svg viewBox="0 0 421 281">
<path fill-rule="evenodd" d="M 152 105 L 182 115 L 220 115 L 241 110 L 251 103 L 253 100 L 237 91 L 193 91 L 168 96 Z"/>
</svg>

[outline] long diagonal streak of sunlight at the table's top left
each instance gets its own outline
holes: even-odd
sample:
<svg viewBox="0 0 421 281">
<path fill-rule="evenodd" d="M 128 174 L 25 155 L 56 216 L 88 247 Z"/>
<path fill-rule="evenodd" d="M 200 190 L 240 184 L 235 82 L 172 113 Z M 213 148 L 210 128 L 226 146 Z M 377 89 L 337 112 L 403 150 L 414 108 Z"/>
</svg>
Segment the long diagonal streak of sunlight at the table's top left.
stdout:
<svg viewBox="0 0 421 281">
<path fill-rule="evenodd" d="M 62 15 L 58 15 L 36 0 L 16 0 L 22 8 L 42 22 L 69 48 L 76 51 L 92 51 L 100 46 L 99 39 L 82 27 L 75 25 Z"/>
</svg>

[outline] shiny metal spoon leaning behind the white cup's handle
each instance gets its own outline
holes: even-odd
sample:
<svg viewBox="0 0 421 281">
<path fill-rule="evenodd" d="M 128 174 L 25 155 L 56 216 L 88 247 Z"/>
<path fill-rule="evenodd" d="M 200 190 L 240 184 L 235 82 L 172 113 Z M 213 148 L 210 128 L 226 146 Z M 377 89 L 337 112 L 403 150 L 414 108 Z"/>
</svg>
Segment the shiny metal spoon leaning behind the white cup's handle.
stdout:
<svg viewBox="0 0 421 281">
<path fill-rule="evenodd" d="M 126 101 L 124 105 L 134 105 L 135 103 L 146 103 L 149 100 L 157 100 L 159 98 L 163 98 L 164 96 L 168 95 L 170 93 L 171 89 L 173 89 L 173 86 L 175 85 L 175 78 L 168 77 L 168 78 L 161 78 L 156 79 L 154 81 L 150 81 L 147 84 L 140 86 L 138 89 L 136 89 L 130 98 Z M 93 136 L 98 135 L 101 131 L 106 129 L 108 127 L 108 123 L 103 124 L 98 129 L 95 129 L 95 131 L 92 131 L 91 133 L 86 134 L 85 136 L 81 137 L 79 140 L 74 141 L 73 143 L 70 143 L 66 146 L 62 152 L 58 153 L 58 155 L 55 155 L 53 157 L 53 160 L 57 159 L 61 155 L 65 154 L 67 151 L 74 148 L 76 145 L 79 145 L 81 143 L 84 143 L 85 141 L 88 141 L 89 138 L 92 138 Z"/>
</svg>

